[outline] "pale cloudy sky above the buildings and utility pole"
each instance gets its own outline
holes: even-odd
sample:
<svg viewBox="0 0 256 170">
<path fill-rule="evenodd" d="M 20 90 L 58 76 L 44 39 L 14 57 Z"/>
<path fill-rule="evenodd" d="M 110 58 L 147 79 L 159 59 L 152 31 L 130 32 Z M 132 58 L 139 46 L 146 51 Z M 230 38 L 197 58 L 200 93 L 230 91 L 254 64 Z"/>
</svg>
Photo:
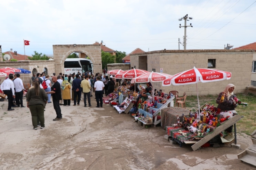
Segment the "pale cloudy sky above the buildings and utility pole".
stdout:
<svg viewBox="0 0 256 170">
<path fill-rule="evenodd" d="M 183 42 L 184 36 L 179 24 L 184 25 L 184 20 L 178 19 L 188 14 L 193 18 L 188 21 L 193 28 L 187 28 L 187 49 L 223 49 L 227 43 L 235 48 L 255 42 L 254 2 L 1 0 L 0 45 L 3 52 L 12 48 L 24 54 L 23 39 L 28 40 L 26 55 L 35 50 L 53 54 L 54 44 L 101 40 L 107 47 L 127 54 L 135 48 L 179 49 L 178 38 Z"/>
</svg>

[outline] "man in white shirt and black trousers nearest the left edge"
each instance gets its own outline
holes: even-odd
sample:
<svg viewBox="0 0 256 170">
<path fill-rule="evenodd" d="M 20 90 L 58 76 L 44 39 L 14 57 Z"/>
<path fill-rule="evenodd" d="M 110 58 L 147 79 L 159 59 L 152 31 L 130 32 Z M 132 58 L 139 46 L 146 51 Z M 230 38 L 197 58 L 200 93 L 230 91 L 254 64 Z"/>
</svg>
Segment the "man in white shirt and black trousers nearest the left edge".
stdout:
<svg viewBox="0 0 256 170">
<path fill-rule="evenodd" d="M 15 98 L 14 95 L 14 84 L 12 82 L 13 76 L 9 76 L 8 79 L 4 80 L 4 82 L 1 84 L 1 90 L 2 93 L 6 94 L 8 97 L 8 111 L 12 111 L 12 98 Z"/>
</svg>

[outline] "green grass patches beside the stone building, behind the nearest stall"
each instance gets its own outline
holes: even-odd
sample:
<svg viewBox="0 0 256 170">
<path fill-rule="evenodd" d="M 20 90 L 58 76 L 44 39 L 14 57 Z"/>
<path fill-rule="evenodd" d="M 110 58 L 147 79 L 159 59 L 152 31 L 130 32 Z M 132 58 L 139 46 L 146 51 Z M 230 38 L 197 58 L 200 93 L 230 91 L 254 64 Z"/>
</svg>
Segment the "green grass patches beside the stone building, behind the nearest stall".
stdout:
<svg viewBox="0 0 256 170">
<path fill-rule="evenodd" d="M 218 106 L 216 104 L 216 99 L 218 95 L 207 95 L 207 96 L 199 96 L 200 106 L 203 106 L 205 103 L 214 104 L 215 107 Z M 236 112 L 244 116 L 239 122 L 236 123 L 236 129 L 239 133 L 245 133 L 250 135 L 256 129 L 256 96 L 253 94 L 236 94 L 236 97 L 240 99 L 244 103 L 248 103 L 247 107 L 237 106 Z M 187 96 L 186 99 L 186 109 L 191 111 L 196 111 L 198 109 L 197 106 L 197 96 Z"/>
</svg>

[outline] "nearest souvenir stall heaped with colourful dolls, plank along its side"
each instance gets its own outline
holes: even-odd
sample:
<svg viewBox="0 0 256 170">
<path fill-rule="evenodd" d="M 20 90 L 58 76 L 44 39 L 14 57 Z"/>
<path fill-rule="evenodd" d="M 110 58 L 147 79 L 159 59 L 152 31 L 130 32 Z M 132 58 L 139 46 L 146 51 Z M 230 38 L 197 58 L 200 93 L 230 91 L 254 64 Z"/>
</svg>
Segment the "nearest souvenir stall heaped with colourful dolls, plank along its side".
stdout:
<svg viewBox="0 0 256 170">
<path fill-rule="evenodd" d="M 221 143 L 220 137 L 217 139 L 216 136 L 220 134 L 225 138 L 222 132 L 240 119 L 241 116 L 235 111 L 217 113 L 216 107 L 206 104 L 200 109 L 200 115 L 197 112 L 190 113 L 189 116 L 183 116 L 180 121 L 177 120 L 177 124 L 167 126 L 165 130 L 172 141 L 178 142 L 180 147 L 183 143 L 193 144 L 191 147 L 195 151 L 209 141 L 210 144 Z"/>
</svg>

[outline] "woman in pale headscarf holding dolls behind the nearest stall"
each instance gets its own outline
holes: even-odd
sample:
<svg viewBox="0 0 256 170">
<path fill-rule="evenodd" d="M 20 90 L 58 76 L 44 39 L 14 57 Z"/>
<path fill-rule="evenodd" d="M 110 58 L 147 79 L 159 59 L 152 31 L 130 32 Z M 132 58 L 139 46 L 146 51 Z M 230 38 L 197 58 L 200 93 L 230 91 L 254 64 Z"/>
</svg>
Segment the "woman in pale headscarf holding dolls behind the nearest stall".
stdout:
<svg viewBox="0 0 256 170">
<path fill-rule="evenodd" d="M 233 91 L 235 90 L 236 86 L 233 84 L 228 84 L 227 87 L 223 92 L 220 92 L 216 103 L 218 104 L 218 108 L 221 111 L 228 111 L 228 110 L 235 110 L 237 107 L 237 103 L 234 100 L 236 95 L 234 95 Z M 224 97 L 224 100 L 221 100 L 221 97 Z M 222 99 L 223 99 L 222 97 Z"/>
</svg>

